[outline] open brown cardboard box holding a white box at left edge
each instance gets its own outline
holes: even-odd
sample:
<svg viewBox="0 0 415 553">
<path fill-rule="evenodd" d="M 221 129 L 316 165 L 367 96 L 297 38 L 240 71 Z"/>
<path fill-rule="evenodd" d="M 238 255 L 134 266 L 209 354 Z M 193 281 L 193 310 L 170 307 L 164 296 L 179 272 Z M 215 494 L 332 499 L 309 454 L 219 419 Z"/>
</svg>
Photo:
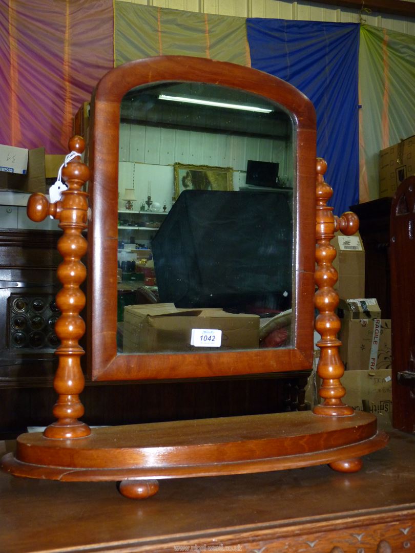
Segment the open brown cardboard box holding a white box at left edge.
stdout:
<svg viewBox="0 0 415 553">
<path fill-rule="evenodd" d="M 45 149 L 29 150 L 27 174 L 0 171 L 0 189 L 46 194 Z"/>
</svg>

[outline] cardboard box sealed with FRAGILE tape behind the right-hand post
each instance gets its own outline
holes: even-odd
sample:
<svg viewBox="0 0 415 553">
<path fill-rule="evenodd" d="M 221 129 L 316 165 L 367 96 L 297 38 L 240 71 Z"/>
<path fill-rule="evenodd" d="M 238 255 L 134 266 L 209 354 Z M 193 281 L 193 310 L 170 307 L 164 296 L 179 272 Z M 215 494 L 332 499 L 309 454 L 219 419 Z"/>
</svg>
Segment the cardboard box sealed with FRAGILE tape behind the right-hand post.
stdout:
<svg viewBox="0 0 415 553">
<path fill-rule="evenodd" d="M 390 369 L 391 321 L 381 319 L 381 311 L 373 298 L 339 302 L 341 319 L 339 348 L 347 371 Z"/>
</svg>

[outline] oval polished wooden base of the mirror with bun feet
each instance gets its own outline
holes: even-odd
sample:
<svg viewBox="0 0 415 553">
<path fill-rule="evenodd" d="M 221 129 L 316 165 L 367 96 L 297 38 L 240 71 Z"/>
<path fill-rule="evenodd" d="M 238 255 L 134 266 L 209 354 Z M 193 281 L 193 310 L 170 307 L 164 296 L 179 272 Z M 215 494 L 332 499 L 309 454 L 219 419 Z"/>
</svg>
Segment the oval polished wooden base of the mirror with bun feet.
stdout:
<svg viewBox="0 0 415 553">
<path fill-rule="evenodd" d="M 376 417 L 368 413 L 326 417 L 303 411 L 102 427 L 76 440 L 48 440 L 40 432 L 22 434 L 15 456 L 4 456 L 2 468 L 29 478 L 127 481 L 122 487 L 131 492 L 125 495 L 143 497 L 147 492 L 132 491 L 143 484 L 129 480 L 149 479 L 155 493 L 154 480 L 162 478 L 267 472 L 325 463 L 345 471 L 350 460 L 359 460 L 387 441 L 385 432 L 376 430 Z M 358 465 L 356 461 L 352 468 Z"/>
</svg>

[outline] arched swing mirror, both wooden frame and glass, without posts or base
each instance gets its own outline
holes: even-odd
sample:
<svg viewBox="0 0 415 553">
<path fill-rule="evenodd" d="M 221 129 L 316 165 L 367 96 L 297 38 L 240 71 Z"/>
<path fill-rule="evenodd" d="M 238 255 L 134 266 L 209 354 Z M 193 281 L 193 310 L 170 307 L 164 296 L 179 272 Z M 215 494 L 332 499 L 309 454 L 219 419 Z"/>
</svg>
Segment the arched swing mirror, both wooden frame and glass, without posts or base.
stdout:
<svg viewBox="0 0 415 553">
<path fill-rule="evenodd" d="M 107 74 L 91 117 L 92 378 L 308 369 L 310 102 L 255 70 L 167 57 Z"/>
</svg>

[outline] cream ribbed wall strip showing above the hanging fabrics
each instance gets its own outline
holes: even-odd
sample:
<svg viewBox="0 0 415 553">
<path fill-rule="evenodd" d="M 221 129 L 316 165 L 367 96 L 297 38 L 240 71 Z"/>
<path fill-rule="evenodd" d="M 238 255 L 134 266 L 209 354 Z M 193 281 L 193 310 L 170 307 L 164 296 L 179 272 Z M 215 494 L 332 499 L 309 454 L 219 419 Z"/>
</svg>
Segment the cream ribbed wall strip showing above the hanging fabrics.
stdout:
<svg viewBox="0 0 415 553">
<path fill-rule="evenodd" d="M 234 15 L 236 17 L 266 17 L 299 19 L 305 21 L 331 21 L 359 23 L 357 9 L 331 7 L 326 4 L 280 0 L 123 0 L 142 6 L 181 9 L 189 12 Z M 409 0 L 415 2 L 415 0 Z M 394 17 L 389 14 L 362 13 L 368 25 L 384 27 L 400 33 L 415 35 L 415 19 Z"/>
</svg>

